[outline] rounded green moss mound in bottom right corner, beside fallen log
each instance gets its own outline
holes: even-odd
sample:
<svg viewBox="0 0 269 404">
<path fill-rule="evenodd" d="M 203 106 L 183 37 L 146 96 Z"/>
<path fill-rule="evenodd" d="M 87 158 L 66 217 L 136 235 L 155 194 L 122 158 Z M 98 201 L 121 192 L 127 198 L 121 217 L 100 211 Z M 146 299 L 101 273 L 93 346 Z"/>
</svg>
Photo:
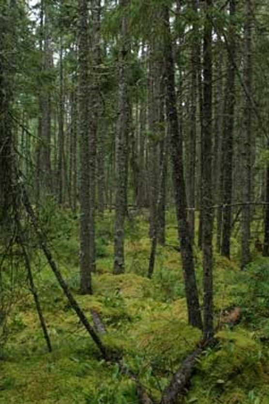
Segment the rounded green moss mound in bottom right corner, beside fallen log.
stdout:
<svg viewBox="0 0 269 404">
<path fill-rule="evenodd" d="M 269 399 L 269 368 L 254 334 L 243 329 L 223 330 L 217 337 L 220 344 L 209 349 L 197 365 L 187 400 L 207 397 L 207 403 L 254 403 L 249 392 L 256 390 L 254 397 L 262 398 L 266 392 Z"/>
</svg>

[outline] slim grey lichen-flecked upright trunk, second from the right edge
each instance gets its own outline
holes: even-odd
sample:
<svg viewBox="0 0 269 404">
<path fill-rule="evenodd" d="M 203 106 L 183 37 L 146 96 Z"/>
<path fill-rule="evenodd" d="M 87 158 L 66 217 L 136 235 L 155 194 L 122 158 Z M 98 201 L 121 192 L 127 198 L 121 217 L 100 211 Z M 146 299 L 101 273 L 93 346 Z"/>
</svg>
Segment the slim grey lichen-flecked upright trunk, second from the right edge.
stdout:
<svg viewBox="0 0 269 404">
<path fill-rule="evenodd" d="M 252 0 L 245 1 L 246 23 L 244 28 L 244 84 L 248 94 L 252 91 Z M 242 130 L 242 207 L 241 214 L 241 268 L 250 262 L 251 226 L 251 177 L 252 177 L 252 105 L 245 95 Z"/>
</svg>

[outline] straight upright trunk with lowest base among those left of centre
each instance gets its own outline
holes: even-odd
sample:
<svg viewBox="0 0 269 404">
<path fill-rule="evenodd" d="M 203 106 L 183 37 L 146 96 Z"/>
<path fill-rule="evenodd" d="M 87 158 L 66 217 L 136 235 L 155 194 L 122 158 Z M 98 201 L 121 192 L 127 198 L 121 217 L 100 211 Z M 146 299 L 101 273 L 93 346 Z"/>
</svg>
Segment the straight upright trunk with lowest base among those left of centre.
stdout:
<svg viewBox="0 0 269 404">
<path fill-rule="evenodd" d="M 90 121 L 87 0 L 79 0 L 79 138 L 80 138 L 80 291 L 91 294 L 90 257 Z"/>
</svg>

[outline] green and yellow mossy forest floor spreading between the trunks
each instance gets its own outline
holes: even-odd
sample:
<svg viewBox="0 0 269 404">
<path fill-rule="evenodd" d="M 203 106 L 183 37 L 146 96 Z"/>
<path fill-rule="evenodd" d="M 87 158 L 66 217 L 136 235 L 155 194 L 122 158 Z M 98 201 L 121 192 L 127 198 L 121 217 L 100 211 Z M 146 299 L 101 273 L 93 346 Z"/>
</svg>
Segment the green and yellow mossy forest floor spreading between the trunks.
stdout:
<svg viewBox="0 0 269 404">
<path fill-rule="evenodd" d="M 53 213 L 54 212 L 54 213 Z M 71 213 L 44 211 L 43 223 L 62 273 L 91 321 L 97 311 L 107 329 L 104 343 L 120 349 L 147 391 L 160 400 L 162 390 L 182 360 L 200 340 L 187 325 L 176 220 L 167 214 L 166 247 L 158 248 L 156 268 L 148 280 L 146 214 L 126 223 L 126 273 L 112 275 L 113 218 L 98 220 L 97 273 L 93 296 L 76 293 L 78 219 Z M 34 242 L 33 242 L 34 244 Z M 218 343 L 197 362 L 182 403 L 269 404 L 269 260 L 253 253 L 249 268 L 214 256 L 215 323 L 224 309 L 240 307 L 241 321 L 222 327 Z M 47 353 L 32 296 L 21 283 L 9 321 L 9 338 L 0 361 L 0 403 L 136 404 L 134 383 L 108 365 L 85 333 L 50 273 L 42 254 L 32 249 L 35 280 L 49 327 L 53 352 Z M 202 256 L 195 251 L 201 293 Z M 21 282 L 21 280 L 20 280 Z"/>
</svg>

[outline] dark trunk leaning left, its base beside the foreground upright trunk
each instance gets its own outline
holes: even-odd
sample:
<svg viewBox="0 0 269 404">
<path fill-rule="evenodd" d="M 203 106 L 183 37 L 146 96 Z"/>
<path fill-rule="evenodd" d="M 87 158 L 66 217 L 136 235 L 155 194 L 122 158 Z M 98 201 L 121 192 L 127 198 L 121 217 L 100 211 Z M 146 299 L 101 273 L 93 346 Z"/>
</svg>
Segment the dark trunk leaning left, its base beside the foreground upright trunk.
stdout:
<svg viewBox="0 0 269 404">
<path fill-rule="evenodd" d="M 184 180 L 182 139 L 179 137 L 179 122 L 176 105 L 175 72 L 171 42 L 169 9 L 163 8 L 164 21 L 164 80 L 166 92 L 166 113 L 169 123 L 170 153 L 173 167 L 173 182 L 175 192 L 178 232 L 182 265 L 184 270 L 185 290 L 189 323 L 202 328 L 198 291 L 194 271 L 192 240 L 187 220 L 187 201 Z"/>
</svg>

